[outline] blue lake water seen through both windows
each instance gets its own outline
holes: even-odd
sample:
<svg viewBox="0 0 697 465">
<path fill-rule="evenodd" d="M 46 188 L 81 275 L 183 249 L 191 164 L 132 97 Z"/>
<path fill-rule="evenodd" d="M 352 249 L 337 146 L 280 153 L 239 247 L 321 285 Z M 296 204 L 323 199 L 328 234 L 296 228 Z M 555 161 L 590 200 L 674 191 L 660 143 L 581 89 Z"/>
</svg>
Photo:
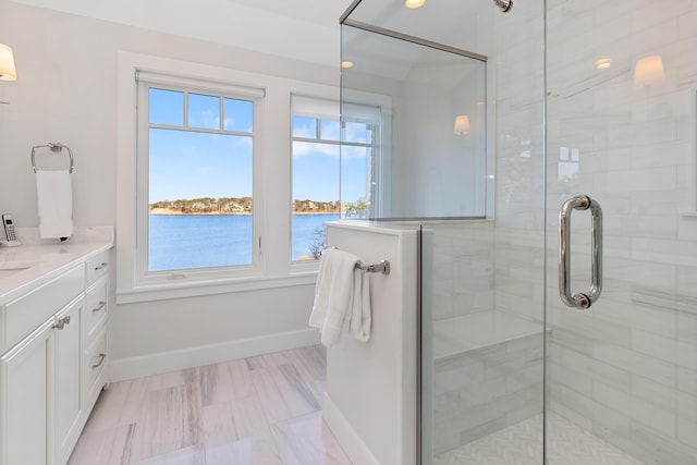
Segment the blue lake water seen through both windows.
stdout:
<svg viewBox="0 0 697 465">
<path fill-rule="evenodd" d="M 311 255 L 317 228 L 339 213 L 294 215 L 292 259 Z M 150 215 L 149 271 L 252 264 L 250 215 Z"/>
</svg>

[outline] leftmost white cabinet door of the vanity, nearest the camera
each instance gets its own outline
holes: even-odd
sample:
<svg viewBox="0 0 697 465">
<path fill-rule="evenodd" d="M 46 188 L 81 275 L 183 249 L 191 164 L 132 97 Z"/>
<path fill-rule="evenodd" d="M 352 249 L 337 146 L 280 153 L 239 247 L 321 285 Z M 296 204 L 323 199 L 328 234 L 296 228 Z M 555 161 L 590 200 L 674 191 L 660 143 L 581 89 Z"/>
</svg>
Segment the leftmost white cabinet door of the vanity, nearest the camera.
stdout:
<svg viewBox="0 0 697 465">
<path fill-rule="evenodd" d="M 0 358 L 2 465 L 46 465 L 51 325 Z"/>
</svg>

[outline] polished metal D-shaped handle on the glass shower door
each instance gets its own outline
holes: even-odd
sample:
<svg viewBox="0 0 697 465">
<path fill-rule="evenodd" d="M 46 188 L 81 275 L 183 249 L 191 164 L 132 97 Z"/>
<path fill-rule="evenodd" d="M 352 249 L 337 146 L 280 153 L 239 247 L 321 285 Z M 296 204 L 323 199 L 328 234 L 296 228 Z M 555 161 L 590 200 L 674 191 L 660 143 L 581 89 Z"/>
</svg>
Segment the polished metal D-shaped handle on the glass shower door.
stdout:
<svg viewBox="0 0 697 465">
<path fill-rule="evenodd" d="M 591 230 L 591 280 L 588 293 L 571 293 L 571 212 L 573 210 L 590 210 Z M 588 197 L 579 195 L 564 201 L 559 211 L 559 295 L 564 304 L 572 308 L 585 310 L 600 297 L 602 291 L 602 209 Z"/>
</svg>

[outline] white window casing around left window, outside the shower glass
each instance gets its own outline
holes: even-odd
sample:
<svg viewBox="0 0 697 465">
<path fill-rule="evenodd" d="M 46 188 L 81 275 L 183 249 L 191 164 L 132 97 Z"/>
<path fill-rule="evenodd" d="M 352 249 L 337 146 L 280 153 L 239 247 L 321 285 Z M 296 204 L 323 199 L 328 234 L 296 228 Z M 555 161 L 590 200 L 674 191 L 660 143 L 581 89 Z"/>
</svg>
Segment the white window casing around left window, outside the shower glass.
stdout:
<svg viewBox="0 0 697 465">
<path fill-rule="evenodd" d="M 260 136 L 254 142 L 255 243 L 260 242 L 261 247 L 255 256 L 257 265 L 248 272 L 184 272 L 160 279 L 150 279 L 142 272 L 139 245 L 147 242 L 136 232 L 147 203 L 138 201 L 144 176 L 138 172 L 136 71 L 189 83 L 203 81 L 206 86 L 264 90 Z M 117 73 L 117 303 L 314 284 L 317 264 L 293 267 L 291 260 L 291 95 L 339 100 L 339 88 L 126 51 L 119 52 Z"/>
</svg>

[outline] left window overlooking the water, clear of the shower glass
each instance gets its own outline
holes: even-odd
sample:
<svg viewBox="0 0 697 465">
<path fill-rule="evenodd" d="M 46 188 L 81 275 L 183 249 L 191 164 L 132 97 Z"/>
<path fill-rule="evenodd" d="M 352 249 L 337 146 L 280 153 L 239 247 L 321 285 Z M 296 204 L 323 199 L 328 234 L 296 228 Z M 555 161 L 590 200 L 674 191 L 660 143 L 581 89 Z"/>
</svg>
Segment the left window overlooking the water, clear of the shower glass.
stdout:
<svg viewBox="0 0 697 465">
<path fill-rule="evenodd" d="M 252 266 L 255 98 L 138 81 L 147 272 Z"/>
</svg>

